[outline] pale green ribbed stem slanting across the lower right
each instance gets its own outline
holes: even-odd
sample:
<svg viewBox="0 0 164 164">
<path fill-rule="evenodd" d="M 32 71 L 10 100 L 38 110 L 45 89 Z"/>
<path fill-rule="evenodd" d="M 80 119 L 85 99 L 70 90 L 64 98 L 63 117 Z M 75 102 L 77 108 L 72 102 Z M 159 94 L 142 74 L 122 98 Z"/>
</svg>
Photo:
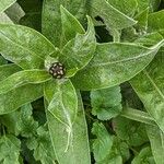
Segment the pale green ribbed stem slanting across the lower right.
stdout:
<svg viewBox="0 0 164 164">
<path fill-rule="evenodd" d="M 144 122 L 144 124 L 151 125 L 151 126 L 156 125 L 154 119 L 148 113 L 144 113 L 144 112 L 141 112 L 138 109 L 133 109 L 133 108 L 129 108 L 129 107 L 125 108 L 120 116 L 132 119 L 132 120 L 137 120 L 140 122 Z"/>
</svg>

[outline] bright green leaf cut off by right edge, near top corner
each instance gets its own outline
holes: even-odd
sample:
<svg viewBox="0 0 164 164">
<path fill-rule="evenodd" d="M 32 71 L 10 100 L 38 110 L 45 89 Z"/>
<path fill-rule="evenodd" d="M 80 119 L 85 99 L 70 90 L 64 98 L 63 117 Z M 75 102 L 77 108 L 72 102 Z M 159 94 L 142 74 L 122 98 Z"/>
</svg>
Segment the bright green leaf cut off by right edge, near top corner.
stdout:
<svg viewBox="0 0 164 164">
<path fill-rule="evenodd" d="M 148 27 L 150 32 L 164 30 L 164 10 L 149 14 Z"/>
</svg>

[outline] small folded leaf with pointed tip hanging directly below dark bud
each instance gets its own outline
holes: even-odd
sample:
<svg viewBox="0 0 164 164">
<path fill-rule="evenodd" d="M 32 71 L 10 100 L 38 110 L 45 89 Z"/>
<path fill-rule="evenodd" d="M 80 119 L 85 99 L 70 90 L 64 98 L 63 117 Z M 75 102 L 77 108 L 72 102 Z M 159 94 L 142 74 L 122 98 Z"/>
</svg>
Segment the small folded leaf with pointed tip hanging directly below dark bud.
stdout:
<svg viewBox="0 0 164 164">
<path fill-rule="evenodd" d="M 55 87 L 54 86 L 55 83 Z M 54 91 L 52 99 L 49 102 L 48 110 L 60 122 L 66 125 L 66 128 L 72 127 L 77 116 L 78 97 L 75 90 L 70 80 L 54 81 L 45 84 L 45 92 Z M 69 129 L 68 129 L 69 130 Z"/>
</svg>

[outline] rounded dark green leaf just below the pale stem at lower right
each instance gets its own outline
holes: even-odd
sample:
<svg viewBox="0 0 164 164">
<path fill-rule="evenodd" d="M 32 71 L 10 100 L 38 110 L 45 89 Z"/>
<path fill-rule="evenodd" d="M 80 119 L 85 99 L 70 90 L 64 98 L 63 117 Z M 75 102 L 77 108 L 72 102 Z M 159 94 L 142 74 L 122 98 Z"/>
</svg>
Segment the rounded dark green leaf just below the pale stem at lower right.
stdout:
<svg viewBox="0 0 164 164">
<path fill-rule="evenodd" d="M 129 145 L 139 147 L 148 142 L 144 125 L 124 117 L 116 117 L 113 120 L 114 131 L 117 137 Z"/>
</svg>

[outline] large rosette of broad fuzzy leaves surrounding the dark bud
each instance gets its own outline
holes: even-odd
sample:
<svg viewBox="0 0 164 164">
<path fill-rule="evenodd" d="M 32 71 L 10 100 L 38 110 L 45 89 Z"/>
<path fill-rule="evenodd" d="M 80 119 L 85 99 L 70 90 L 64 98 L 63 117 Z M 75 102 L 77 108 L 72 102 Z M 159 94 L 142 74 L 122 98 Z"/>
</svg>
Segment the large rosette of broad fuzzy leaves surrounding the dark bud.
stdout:
<svg viewBox="0 0 164 164">
<path fill-rule="evenodd" d="M 113 15 L 117 15 L 112 20 L 113 15 L 108 19 L 104 12 L 99 13 L 113 30 L 120 31 L 137 23 L 107 1 L 102 2 L 104 8 L 113 9 Z M 92 19 L 87 16 L 85 31 L 77 15 L 63 7 L 60 7 L 61 14 L 58 13 L 60 21 L 55 20 L 58 26 L 55 34 L 58 35 L 49 36 L 55 31 L 54 24 L 49 23 L 49 15 L 55 11 L 47 11 L 49 5 L 45 1 L 43 10 L 43 34 L 47 38 L 26 26 L 0 24 L 0 54 L 10 61 L 0 66 L 0 115 L 44 96 L 57 161 L 60 164 L 90 164 L 79 89 L 106 89 L 130 80 L 152 61 L 164 42 L 162 39 L 149 48 L 130 43 L 96 44 Z M 97 8 L 97 3 L 91 5 Z M 63 78 L 55 79 L 49 74 L 54 62 L 65 66 Z"/>
</svg>

